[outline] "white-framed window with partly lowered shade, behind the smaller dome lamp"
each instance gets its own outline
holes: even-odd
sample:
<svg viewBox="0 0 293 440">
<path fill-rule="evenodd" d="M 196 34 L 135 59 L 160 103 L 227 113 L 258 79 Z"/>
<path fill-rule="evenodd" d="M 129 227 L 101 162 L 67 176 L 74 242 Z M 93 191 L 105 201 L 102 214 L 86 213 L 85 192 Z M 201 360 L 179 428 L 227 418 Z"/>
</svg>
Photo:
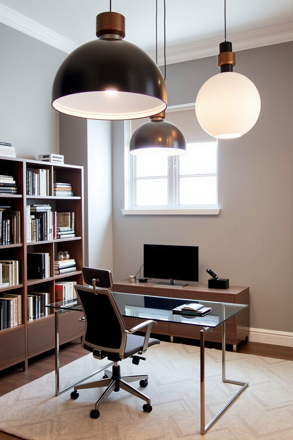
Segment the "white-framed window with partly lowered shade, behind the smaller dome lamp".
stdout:
<svg viewBox="0 0 293 440">
<path fill-rule="evenodd" d="M 147 120 L 138 123 L 132 121 L 134 126 L 131 132 Z M 174 210 L 175 214 L 219 213 L 216 139 L 203 132 L 198 125 L 194 107 L 193 111 L 174 111 L 172 117 L 166 113 L 166 120 L 177 125 L 183 132 L 187 140 L 187 152 L 168 158 L 158 155 L 155 149 L 149 156 L 128 154 L 126 160 L 129 162 L 129 176 L 126 176 L 126 180 L 129 179 L 129 206 L 123 213 L 151 211 L 161 214 L 174 213 Z"/>
</svg>

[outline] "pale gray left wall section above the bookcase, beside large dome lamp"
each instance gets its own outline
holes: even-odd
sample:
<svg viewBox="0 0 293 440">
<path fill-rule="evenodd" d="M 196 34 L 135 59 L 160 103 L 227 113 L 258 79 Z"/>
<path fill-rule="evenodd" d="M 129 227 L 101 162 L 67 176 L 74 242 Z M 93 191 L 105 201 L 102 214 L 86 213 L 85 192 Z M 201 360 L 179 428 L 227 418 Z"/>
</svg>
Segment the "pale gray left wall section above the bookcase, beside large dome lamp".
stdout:
<svg viewBox="0 0 293 440">
<path fill-rule="evenodd" d="M 0 23 L 0 140 L 19 158 L 59 152 L 55 73 L 66 54 Z"/>
</svg>

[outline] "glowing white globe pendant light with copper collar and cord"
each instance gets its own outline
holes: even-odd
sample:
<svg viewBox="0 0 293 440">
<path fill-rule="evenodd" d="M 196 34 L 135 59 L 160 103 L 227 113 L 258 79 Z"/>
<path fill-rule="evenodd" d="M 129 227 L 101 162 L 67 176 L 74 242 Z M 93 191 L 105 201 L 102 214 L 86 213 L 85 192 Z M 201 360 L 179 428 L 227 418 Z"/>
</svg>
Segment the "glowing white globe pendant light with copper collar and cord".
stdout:
<svg viewBox="0 0 293 440">
<path fill-rule="evenodd" d="M 260 114 L 260 95 L 250 79 L 233 72 L 235 53 L 226 41 L 226 0 L 224 3 L 225 41 L 220 44 L 218 67 L 221 73 L 200 88 L 195 113 L 201 127 L 217 139 L 237 138 L 247 133 Z"/>
</svg>

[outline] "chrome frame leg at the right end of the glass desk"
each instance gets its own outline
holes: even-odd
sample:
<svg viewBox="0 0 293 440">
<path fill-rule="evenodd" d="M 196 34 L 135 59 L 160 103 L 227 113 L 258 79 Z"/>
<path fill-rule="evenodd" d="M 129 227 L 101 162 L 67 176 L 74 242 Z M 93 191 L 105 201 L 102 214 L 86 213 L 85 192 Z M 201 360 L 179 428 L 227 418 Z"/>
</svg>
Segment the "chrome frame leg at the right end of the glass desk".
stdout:
<svg viewBox="0 0 293 440">
<path fill-rule="evenodd" d="M 211 331 L 210 327 L 204 327 L 200 330 L 200 433 L 205 434 L 206 431 L 217 421 L 219 417 L 228 409 L 228 407 L 237 399 L 237 397 L 246 389 L 248 382 L 233 381 L 226 379 L 226 326 L 222 323 L 222 381 L 235 385 L 241 385 L 239 391 L 229 400 L 228 403 L 219 411 L 215 417 L 205 425 L 205 385 L 204 385 L 204 335 Z"/>
</svg>

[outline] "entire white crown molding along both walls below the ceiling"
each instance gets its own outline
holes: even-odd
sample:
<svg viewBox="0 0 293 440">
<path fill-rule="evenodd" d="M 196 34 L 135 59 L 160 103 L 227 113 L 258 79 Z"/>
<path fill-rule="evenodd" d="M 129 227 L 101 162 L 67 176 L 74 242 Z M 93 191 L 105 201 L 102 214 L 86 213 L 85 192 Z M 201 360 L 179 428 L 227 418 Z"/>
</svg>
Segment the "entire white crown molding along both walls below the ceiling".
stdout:
<svg viewBox="0 0 293 440">
<path fill-rule="evenodd" d="M 18 14 L 18 12 L 2 4 L 0 4 L 0 22 L 20 32 L 26 33 L 37 40 L 43 41 L 43 43 L 50 44 L 65 53 L 70 53 L 78 47 L 78 44 L 68 38 L 62 37 L 62 35 L 45 26 L 41 26 L 39 23 L 30 20 L 24 15 Z M 293 40 L 293 23 L 262 29 L 257 32 L 231 35 L 229 40 L 232 41 L 233 51 L 235 52 L 269 46 L 271 44 L 285 43 Z M 219 39 L 213 39 L 197 43 L 182 44 L 167 49 L 166 64 L 217 55 L 219 42 L 221 42 Z M 148 51 L 148 54 L 151 55 L 153 59 L 156 59 L 155 51 Z M 163 51 L 158 51 L 158 64 L 160 66 L 164 64 Z"/>
</svg>

